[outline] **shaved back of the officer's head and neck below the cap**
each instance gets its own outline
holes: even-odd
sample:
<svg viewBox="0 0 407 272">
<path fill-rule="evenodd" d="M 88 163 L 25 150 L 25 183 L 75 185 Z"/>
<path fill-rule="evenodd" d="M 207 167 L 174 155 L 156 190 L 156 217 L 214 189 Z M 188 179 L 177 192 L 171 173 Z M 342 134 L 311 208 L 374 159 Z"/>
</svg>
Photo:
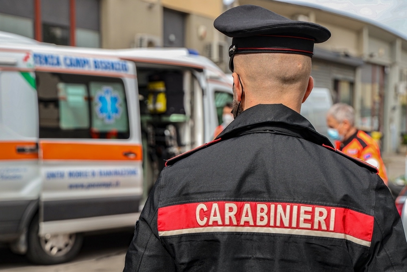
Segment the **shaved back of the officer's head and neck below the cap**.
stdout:
<svg viewBox="0 0 407 272">
<path fill-rule="evenodd" d="M 245 53 L 233 59 L 245 92 L 260 103 L 303 102 L 311 75 L 311 57 L 288 53 Z"/>
</svg>

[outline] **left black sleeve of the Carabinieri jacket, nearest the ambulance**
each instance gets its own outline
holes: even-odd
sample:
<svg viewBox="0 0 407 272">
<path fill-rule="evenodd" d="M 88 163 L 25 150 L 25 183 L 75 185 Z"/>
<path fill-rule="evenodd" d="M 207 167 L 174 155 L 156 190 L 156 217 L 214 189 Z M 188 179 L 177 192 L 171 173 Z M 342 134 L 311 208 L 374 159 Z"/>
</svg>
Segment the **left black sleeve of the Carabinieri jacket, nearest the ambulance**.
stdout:
<svg viewBox="0 0 407 272">
<path fill-rule="evenodd" d="M 158 203 L 164 170 L 151 190 L 140 219 L 136 222 L 136 230 L 126 253 L 123 272 L 175 272 L 173 258 L 158 238 L 157 230 Z"/>
</svg>

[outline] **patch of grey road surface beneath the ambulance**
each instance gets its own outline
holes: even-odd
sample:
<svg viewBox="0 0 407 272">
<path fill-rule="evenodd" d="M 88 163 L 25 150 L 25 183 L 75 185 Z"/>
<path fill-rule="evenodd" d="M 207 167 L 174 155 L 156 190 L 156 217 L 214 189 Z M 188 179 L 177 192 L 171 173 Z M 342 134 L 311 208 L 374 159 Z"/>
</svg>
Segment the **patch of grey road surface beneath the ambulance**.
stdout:
<svg viewBox="0 0 407 272">
<path fill-rule="evenodd" d="M 33 265 L 24 256 L 0 248 L 1 272 L 121 272 L 125 254 L 133 237 L 131 230 L 84 238 L 79 255 L 69 263 Z"/>
</svg>

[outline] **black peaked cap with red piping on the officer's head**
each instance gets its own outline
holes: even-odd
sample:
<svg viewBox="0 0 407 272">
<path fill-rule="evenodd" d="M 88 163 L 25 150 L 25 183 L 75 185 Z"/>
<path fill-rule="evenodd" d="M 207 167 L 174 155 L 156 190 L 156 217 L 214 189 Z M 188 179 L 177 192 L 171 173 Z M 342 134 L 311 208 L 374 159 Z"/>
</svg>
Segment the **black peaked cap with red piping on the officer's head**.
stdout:
<svg viewBox="0 0 407 272">
<path fill-rule="evenodd" d="M 225 11 L 216 18 L 214 27 L 233 38 L 229 48 L 231 71 L 234 54 L 273 52 L 312 57 L 314 43 L 330 38 L 330 31 L 319 24 L 290 20 L 254 5 Z"/>
</svg>

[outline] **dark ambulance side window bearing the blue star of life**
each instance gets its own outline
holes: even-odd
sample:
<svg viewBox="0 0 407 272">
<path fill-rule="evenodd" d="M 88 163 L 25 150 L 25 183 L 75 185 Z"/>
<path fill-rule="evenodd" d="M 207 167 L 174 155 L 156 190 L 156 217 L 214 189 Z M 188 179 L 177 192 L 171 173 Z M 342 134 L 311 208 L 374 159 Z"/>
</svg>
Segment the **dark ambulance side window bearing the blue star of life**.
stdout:
<svg viewBox="0 0 407 272">
<path fill-rule="evenodd" d="M 37 72 L 40 138 L 128 139 L 122 80 Z"/>
</svg>

